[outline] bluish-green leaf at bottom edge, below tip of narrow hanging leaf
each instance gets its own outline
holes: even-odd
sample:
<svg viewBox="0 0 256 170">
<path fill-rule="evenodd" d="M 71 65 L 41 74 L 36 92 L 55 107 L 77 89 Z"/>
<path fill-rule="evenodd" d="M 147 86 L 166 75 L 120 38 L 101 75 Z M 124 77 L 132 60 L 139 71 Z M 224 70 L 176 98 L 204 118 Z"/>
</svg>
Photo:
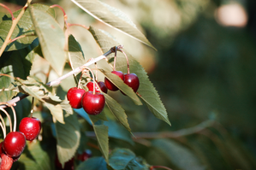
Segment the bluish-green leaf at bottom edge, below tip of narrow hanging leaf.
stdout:
<svg viewBox="0 0 256 170">
<path fill-rule="evenodd" d="M 116 170 L 148 170 L 144 160 L 129 149 L 114 149 L 110 154 L 110 166 Z"/>
</svg>

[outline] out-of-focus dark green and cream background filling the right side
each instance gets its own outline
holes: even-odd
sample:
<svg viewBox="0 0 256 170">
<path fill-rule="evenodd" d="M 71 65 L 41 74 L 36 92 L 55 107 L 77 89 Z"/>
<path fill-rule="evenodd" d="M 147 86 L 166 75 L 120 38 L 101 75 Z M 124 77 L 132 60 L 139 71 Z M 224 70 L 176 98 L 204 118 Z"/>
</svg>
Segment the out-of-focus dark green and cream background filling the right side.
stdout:
<svg viewBox="0 0 256 170">
<path fill-rule="evenodd" d="M 4 2 L 13 10 L 26 3 Z M 202 131 L 169 139 L 154 139 L 149 133 L 133 147 L 136 154 L 150 164 L 174 169 L 256 169 L 255 0 L 103 2 L 127 14 L 158 51 L 94 20 L 68 0 L 33 1 L 60 4 L 68 22 L 110 32 L 146 68 L 172 126 L 146 107 L 116 97 L 127 110 L 133 132 L 189 132 L 201 122 L 214 122 Z M 57 14 L 63 24 L 61 12 Z M 89 32 L 75 27 L 72 33 L 85 56 L 100 55 Z"/>
</svg>

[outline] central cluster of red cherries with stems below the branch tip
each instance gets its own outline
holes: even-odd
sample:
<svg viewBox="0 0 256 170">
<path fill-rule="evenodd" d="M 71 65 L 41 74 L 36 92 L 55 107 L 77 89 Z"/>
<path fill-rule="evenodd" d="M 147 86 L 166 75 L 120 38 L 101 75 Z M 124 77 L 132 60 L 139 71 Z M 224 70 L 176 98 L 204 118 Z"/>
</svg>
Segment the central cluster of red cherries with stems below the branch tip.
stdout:
<svg viewBox="0 0 256 170">
<path fill-rule="evenodd" d="M 126 56 L 126 54 L 123 51 L 122 53 Z M 122 73 L 122 71 L 116 71 L 116 55 L 114 60 L 113 71 L 111 73 L 116 74 L 120 79 L 122 79 L 122 81 L 126 85 L 131 87 L 134 90 L 134 92 L 137 92 L 140 86 L 140 80 L 135 73 L 129 72 L 129 64 L 128 64 L 127 56 L 126 56 L 126 59 L 127 59 L 127 65 L 128 65 L 128 73 Z M 110 91 L 119 90 L 118 87 L 116 87 L 116 85 L 114 85 L 110 81 L 110 79 L 106 77 L 104 78 L 104 82 L 103 82 L 103 81 L 95 80 L 93 76 L 93 81 L 88 82 L 86 84 L 86 87 L 88 91 L 79 87 L 70 88 L 67 93 L 67 98 L 72 108 L 84 108 L 87 114 L 92 114 L 92 115 L 100 114 L 104 109 L 105 98 L 104 98 L 104 95 L 101 93 L 101 91 L 104 93 L 107 93 L 108 90 Z M 124 94 L 123 92 L 122 94 L 126 96 L 126 94 Z"/>
</svg>

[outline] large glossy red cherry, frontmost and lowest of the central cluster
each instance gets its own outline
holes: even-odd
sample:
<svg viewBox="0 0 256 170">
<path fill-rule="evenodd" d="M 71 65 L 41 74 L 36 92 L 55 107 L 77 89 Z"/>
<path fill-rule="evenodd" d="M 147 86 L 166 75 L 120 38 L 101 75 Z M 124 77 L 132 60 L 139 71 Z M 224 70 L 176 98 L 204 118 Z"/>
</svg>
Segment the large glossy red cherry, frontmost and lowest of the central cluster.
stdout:
<svg viewBox="0 0 256 170">
<path fill-rule="evenodd" d="M 87 91 L 82 98 L 82 106 L 87 114 L 100 114 L 104 108 L 105 98 L 102 93 Z"/>
</svg>

